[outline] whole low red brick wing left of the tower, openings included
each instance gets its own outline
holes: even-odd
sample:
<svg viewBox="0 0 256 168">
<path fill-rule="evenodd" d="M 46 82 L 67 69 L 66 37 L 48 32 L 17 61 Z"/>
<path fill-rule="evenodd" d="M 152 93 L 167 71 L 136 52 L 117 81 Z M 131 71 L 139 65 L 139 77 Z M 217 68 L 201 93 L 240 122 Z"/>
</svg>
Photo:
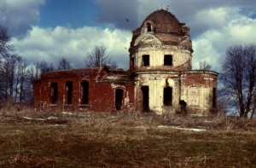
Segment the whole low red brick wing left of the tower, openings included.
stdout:
<svg viewBox="0 0 256 168">
<path fill-rule="evenodd" d="M 133 88 L 127 72 L 108 67 L 47 72 L 34 83 L 34 104 L 40 110 L 114 112 L 132 107 Z"/>
</svg>

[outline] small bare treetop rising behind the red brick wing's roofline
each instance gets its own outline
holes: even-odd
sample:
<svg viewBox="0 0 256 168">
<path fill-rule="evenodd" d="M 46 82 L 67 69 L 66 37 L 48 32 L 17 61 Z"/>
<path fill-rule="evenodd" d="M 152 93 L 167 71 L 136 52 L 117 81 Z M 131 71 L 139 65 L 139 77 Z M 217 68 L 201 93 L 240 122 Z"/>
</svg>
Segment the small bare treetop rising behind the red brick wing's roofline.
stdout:
<svg viewBox="0 0 256 168">
<path fill-rule="evenodd" d="M 84 58 L 85 67 L 102 67 L 108 65 L 111 68 L 116 69 L 117 63 L 107 55 L 107 48 L 102 46 L 96 46 Z"/>
</svg>

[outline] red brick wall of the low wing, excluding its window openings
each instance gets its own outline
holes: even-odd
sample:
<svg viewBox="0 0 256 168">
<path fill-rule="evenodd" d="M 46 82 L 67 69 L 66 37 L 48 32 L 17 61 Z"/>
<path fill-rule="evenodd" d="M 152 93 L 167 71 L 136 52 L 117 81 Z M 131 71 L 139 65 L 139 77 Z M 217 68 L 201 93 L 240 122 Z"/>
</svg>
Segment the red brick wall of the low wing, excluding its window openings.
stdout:
<svg viewBox="0 0 256 168">
<path fill-rule="evenodd" d="M 41 109 L 41 101 L 44 102 L 44 110 L 57 110 L 57 111 L 96 111 L 96 112 L 114 112 L 115 111 L 115 89 L 120 88 L 124 90 L 125 96 L 129 96 L 129 101 L 132 104 L 134 101 L 134 84 L 117 84 L 116 87 L 110 82 L 97 82 L 97 72 L 92 72 L 90 74 L 83 74 L 83 72 L 78 71 L 60 71 L 60 72 L 49 72 L 46 73 L 41 79 L 34 83 L 34 105 L 37 110 Z M 64 104 L 63 96 L 66 94 L 65 83 L 67 81 L 73 82 L 73 103 Z M 80 106 L 80 82 L 89 82 L 89 103 L 88 106 Z M 55 105 L 50 104 L 50 84 L 52 82 L 58 83 L 58 99 Z M 40 91 L 41 90 L 41 91 Z M 129 93 L 129 94 L 127 94 Z M 126 110 L 129 106 L 123 106 Z"/>
</svg>

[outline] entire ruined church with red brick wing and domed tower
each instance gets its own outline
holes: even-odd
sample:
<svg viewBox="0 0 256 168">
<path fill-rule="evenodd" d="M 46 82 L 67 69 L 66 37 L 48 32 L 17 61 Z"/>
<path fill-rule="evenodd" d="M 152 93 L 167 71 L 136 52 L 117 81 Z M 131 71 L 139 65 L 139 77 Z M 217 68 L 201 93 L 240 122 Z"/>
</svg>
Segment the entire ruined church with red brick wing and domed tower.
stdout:
<svg viewBox="0 0 256 168">
<path fill-rule="evenodd" d="M 170 12 L 149 14 L 132 32 L 130 69 L 108 66 L 45 73 L 34 83 L 37 110 L 213 113 L 218 72 L 192 70 L 189 27 Z"/>
</svg>

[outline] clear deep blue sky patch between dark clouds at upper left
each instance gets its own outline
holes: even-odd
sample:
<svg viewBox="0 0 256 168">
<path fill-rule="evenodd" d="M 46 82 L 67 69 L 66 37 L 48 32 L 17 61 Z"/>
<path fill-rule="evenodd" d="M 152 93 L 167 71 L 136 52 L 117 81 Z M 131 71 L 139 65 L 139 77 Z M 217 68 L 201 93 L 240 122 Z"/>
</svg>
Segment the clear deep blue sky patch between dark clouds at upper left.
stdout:
<svg viewBox="0 0 256 168">
<path fill-rule="evenodd" d="M 38 26 L 95 26 L 96 5 L 92 0 L 47 0 L 40 8 Z"/>
</svg>

